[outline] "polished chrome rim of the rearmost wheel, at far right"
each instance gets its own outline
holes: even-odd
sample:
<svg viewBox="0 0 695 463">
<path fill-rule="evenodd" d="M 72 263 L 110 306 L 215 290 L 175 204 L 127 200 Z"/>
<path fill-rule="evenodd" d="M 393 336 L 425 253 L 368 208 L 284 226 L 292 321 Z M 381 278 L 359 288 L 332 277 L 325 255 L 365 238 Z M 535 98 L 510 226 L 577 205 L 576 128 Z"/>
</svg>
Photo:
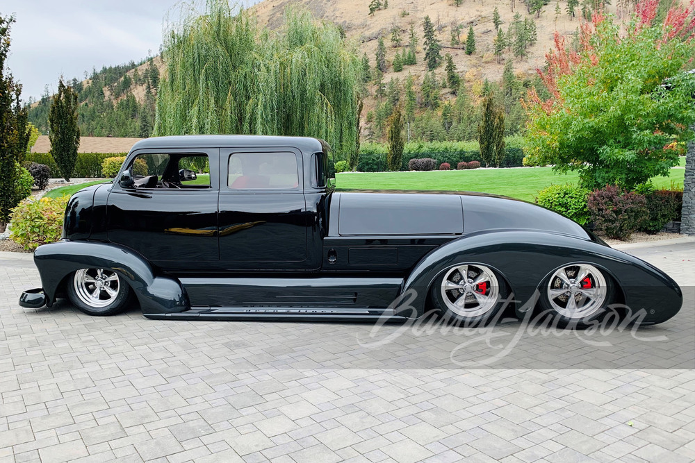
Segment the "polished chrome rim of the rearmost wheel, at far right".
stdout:
<svg viewBox="0 0 695 463">
<path fill-rule="evenodd" d="M 547 294 L 550 307 L 557 313 L 583 319 L 603 308 L 607 285 L 603 273 L 593 265 L 570 264 L 553 273 Z"/>
</svg>

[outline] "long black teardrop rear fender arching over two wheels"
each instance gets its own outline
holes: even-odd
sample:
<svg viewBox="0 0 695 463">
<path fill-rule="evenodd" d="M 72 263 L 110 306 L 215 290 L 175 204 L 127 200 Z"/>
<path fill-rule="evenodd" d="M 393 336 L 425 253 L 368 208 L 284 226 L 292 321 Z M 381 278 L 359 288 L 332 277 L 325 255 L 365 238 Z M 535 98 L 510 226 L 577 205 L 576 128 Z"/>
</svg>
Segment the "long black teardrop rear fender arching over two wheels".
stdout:
<svg viewBox="0 0 695 463">
<path fill-rule="evenodd" d="M 621 289 L 634 314 L 644 310 L 641 323 L 661 323 L 682 306 L 682 292 L 666 273 L 632 255 L 586 239 L 528 230 L 481 232 L 455 239 L 427 254 L 414 267 L 403 292 L 414 290 L 411 305 L 422 314 L 434 278 L 461 262 L 477 262 L 497 269 L 514 292 L 516 315 L 533 308 L 541 282 L 569 262 L 587 262 L 604 269 Z M 531 302 L 530 302 L 531 301 Z"/>
</svg>

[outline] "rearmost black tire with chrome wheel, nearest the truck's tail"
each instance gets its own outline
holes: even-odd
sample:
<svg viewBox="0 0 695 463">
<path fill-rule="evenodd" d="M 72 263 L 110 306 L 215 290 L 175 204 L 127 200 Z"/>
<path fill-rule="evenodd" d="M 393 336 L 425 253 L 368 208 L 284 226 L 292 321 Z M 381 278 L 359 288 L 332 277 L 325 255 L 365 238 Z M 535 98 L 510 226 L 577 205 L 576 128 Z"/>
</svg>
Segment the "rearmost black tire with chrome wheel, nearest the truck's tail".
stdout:
<svg viewBox="0 0 695 463">
<path fill-rule="evenodd" d="M 573 267 L 577 270 L 576 275 L 573 275 L 572 273 Z M 566 271 L 566 276 L 581 277 L 582 274 L 579 273 L 579 269 L 590 270 L 589 275 L 585 276 L 584 278 L 580 278 L 579 281 L 576 281 L 576 278 L 570 278 L 570 281 L 574 285 L 579 285 L 580 287 L 576 288 L 575 292 L 568 291 L 565 294 L 557 296 L 554 302 L 551 301 L 550 289 L 557 289 L 558 292 L 564 289 L 563 286 L 558 287 L 558 285 L 562 285 L 562 278 L 558 277 L 557 273 L 563 270 Z M 581 293 L 582 285 L 584 284 L 582 281 L 588 285 L 597 285 L 595 289 L 603 288 L 603 292 L 596 292 L 596 300 L 593 301 L 595 307 L 591 308 L 591 310 L 583 315 L 581 312 L 582 301 L 586 301 L 584 303 L 584 307 L 587 307 L 587 305 L 592 302 L 588 297 L 584 299 L 586 296 Z M 592 288 L 589 286 L 587 289 Z M 553 324 L 559 328 L 584 330 L 591 326 L 596 326 L 596 324 L 603 321 L 608 314 L 615 314 L 616 316 L 619 316 L 619 314 L 616 314 L 611 308 L 611 305 L 616 302 L 616 294 L 616 285 L 613 283 L 610 275 L 608 275 L 604 270 L 595 267 L 594 265 L 585 264 L 582 262 L 565 264 L 551 272 L 550 275 L 541 283 L 539 305 L 542 312 L 540 317 L 536 318 L 539 322 L 545 323 L 547 317 L 550 317 Z M 569 313 L 572 312 L 571 309 L 569 309 L 571 297 L 575 298 L 574 304 L 575 307 L 577 307 L 577 312 L 575 312 L 575 315 L 572 317 L 568 316 Z M 564 310 L 562 310 L 563 303 L 565 305 Z"/>
</svg>

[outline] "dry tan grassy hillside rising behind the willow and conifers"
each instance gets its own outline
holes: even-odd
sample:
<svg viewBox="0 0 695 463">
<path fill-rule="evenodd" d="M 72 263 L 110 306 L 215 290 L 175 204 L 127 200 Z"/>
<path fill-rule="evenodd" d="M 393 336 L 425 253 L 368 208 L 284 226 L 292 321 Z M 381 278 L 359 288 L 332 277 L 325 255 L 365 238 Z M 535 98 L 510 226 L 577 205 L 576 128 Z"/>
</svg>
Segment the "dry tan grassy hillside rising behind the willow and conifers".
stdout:
<svg viewBox="0 0 695 463">
<path fill-rule="evenodd" d="M 561 11 L 559 16 L 556 16 L 555 13 L 556 1 L 550 0 L 538 18 L 534 17 L 535 15 L 528 15 L 526 6 L 521 0 L 463 0 L 461 6 L 458 7 L 455 6 L 453 0 L 389 0 L 388 8 L 377 10 L 373 15 L 369 14 L 370 0 L 264 0 L 252 8 L 259 17 L 259 24 L 273 29 L 282 24 L 282 16 L 288 6 L 300 5 L 309 8 L 318 19 L 332 21 L 340 25 L 347 38 L 354 40 L 361 53 L 367 54 L 372 66 L 375 64 L 378 39 L 383 36 L 386 43 L 386 60 L 389 63 L 384 74 L 384 83 L 388 83 L 391 78 L 400 78 L 404 81 L 408 74 L 413 74 L 419 82 L 422 81 L 422 76 L 425 73 L 423 19 L 425 16 L 429 16 L 434 23 L 438 38 L 444 46 L 442 55 L 450 53 L 461 77 L 464 78 L 467 85 L 475 88 L 475 84 L 482 83 L 484 79 L 493 82 L 498 81 L 502 76 L 505 62 L 508 60 L 512 60 L 515 71 L 520 74 L 531 75 L 537 68 L 543 67 L 545 54 L 553 45 L 555 31 L 562 35 L 572 35 L 580 25 L 579 17 L 571 20 L 567 15 L 566 0 L 558 1 Z M 526 58 L 514 58 L 512 53 L 506 51 L 501 62 L 498 62 L 494 56 L 493 38 L 496 36 L 496 30 L 492 18 L 495 7 L 500 12 L 501 28 L 505 33 L 516 12 L 520 13 L 522 17 L 534 17 L 537 24 L 537 43 L 530 47 Z M 616 6 L 608 6 L 608 10 L 613 13 L 621 13 L 616 9 Z M 579 8 L 577 15 L 580 15 Z M 418 64 L 405 66 L 403 71 L 396 73 L 393 71 L 391 62 L 398 49 L 391 47 L 391 30 L 394 27 L 400 29 L 402 45 L 405 47 L 411 24 L 414 25 L 419 39 Z M 461 26 L 459 34 L 461 42 L 465 42 L 468 28 L 473 26 L 476 40 L 476 51 L 473 55 L 466 55 L 462 47 L 451 47 L 451 31 L 455 26 Z M 161 57 L 154 58 L 154 64 L 159 69 L 160 74 L 163 74 L 165 65 Z M 140 76 L 144 74 L 147 65 L 148 63 L 145 62 L 137 68 Z M 134 72 L 135 69 L 131 69 L 126 74 L 132 78 Z M 436 69 L 439 78 L 444 73 L 443 65 Z M 84 83 L 86 86 L 89 81 L 84 81 Z M 138 103 L 142 103 L 145 100 L 145 83 L 131 85 L 130 91 L 122 93 L 117 98 L 113 98 L 111 90 L 104 87 L 106 99 L 111 99 L 114 103 L 129 93 L 136 97 Z M 370 93 L 374 93 L 374 88 L 371 89 Z M 446 93 L 442 96 L 443 98 L 450 97 Z M 368 110 L 375 108 L 373 97 L 368 97 L 365 103 L 363 115 Z"/>
</svg>

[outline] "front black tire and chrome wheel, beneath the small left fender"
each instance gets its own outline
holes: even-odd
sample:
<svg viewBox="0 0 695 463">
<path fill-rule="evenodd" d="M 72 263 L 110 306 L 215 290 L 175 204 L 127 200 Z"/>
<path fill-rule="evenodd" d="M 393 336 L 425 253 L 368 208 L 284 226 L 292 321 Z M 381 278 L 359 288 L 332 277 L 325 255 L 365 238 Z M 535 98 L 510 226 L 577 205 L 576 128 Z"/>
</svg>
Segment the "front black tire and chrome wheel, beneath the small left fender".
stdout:
<svg viewBox="0 0 695 463">
<path fill-rule="evenodd" d="M 113 276 L 115 276 L 114 281 L 117 284 L 114 285 L 114 281 L 106 281 L 107 278 L 103 278 L 106 283 L 99 283 L 99 288 L 108 286 L 108 289 L 115 293 L 113 295 L 106 293 L 106 290 L 100 289 L 97 291 L 97 283 L 85 283 L 88 277 L 92 278 L 92 280 L 98 280 L 99 278 L 96 277 L 104 274 L 108 274 L 108 278 L 114 278 Z M 66 286 L 67 297 L 72 305 L 85 314 L 97 317 L 106 317 L 122 312 L 131 300 L 132 292 L 128 283 L 111 269 L 80 269 L 74 271 L 67 278 Z M 97 298 L 99 299 L 92 299 L 93 303 L 89 303 L 90 298 L 85 294 L 85 291 L 87 293 L 97 292 Z"/>
</svg>

